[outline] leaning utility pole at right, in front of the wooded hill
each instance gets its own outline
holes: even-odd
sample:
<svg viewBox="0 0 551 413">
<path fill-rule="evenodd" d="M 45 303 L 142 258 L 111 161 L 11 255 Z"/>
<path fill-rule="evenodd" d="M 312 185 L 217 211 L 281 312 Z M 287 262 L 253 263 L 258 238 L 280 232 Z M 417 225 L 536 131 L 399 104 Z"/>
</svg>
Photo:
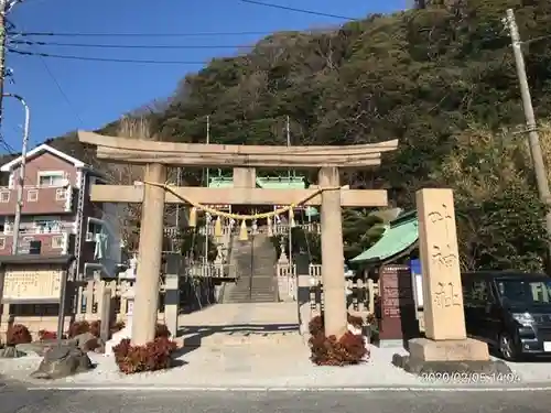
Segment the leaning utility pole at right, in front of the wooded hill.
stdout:
<svg viewBox="0 0 551 413">
<path fill-rule="evenodd" d="M 525 56 L 522 55 L 521 50 L 522 42 L 520 41 L 520 34 L 512 9 L 507 9 L 506 22 L 509 28 L 512 52 L 515 54 L 515 63 L 517 65 L 517 75 L 520 85 L 520 95 L 522 97 L 522 107 L 525 110 L 526 126 L 528 130 L 528 142 L 532 156 L 533 170 L 536 172 L 536 181 L 538 183 L 538 193 L 540 195 L 540 199 L 548 207 L 548 213 L 545 215 L 545 228 L 548 235 L 551 237 L 551 193 L 549 191 L 545 163 L 543 162 L 540 137 L 538 134 L 538 127 L 536 124 L 536 116 L 533 115 L 532 98 L 530 96 L 530 88 L 528 86 L 528 78 L 526 75 Z M 548 260 L 551 260 L 551 243 L 549 252 L 550 254 Z"/>
</svg>

